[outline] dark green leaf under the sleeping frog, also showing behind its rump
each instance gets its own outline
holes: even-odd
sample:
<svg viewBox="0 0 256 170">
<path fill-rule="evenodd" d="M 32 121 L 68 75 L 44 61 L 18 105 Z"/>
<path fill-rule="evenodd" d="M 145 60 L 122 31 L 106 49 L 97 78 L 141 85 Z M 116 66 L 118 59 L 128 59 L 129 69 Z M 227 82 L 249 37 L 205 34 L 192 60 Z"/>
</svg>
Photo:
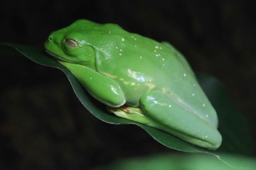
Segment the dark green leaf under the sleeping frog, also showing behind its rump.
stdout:
<svg viewBox="0 0 256 170">
<path fill-rule="evenodd" d="M 89 110 L 90 113 L 92 113 L 98 119 L 111 124 L 138 125 L 139 127 L 143 128 L 145 131 L 147 131 L 147 133 L 149 133 L 156 141 L 163 144 L 164 146 L 167 146 L 175 150 L 180 150 L 184 152 L 210 153 L 209 151 L 203 148 L 194 146 L 190 143 L 187 143 L 179 138 L 176 138 L 158 129 L 155 129 L 150 126 L 147 126 L 138 122 L 134 122 L 128 119 L 116 117 L 113 114 L 108 113 L 105 109 L 105 106 L 99 101 L 95 100 L 93 97 L 91 97 L 89 93 L 83 88 L 83 86 L 70 73 L 69 70 L 67 70 L 63 65 L 58 63 L 53 58 L 47 56 L 43 49 L 38 49 L 35 47 L 21 45 L 21 44 L 0 43 L 0 54 L 17 55 L 17 53 L 15 52 L 16 51 L 15 49 L 36 63 L 39 63 L 44 66 L 56 67 L 62 70 L 68 77 L 73 87 L 73 90 L 76 96 L 81 101 L 81 103 L 86 107 L 87 110 Z M 233 109 L 230 108 L 231 109 L 230 110 L 229 109 L 230 105 L 228 104 L 225 105 L 225 103 L 228 103 L 228 99 L 227 98 L 223 99 L 220 96 L 222 94 L 216 95 L 216 93 L 212 93 L 212 89 L 214 89 L 215 91 L 223 91 L 223 87 L 220 85 L 220 83 L 216 79 L 213 79 L 212 77 L 205 76 L 205 75 L 199 75 L 198 78 L 201 86 L 203 87 L 206 94 L 208 95 L 209 100 L 213 101 L 212 104 L 217 110 L 219 120 L 220 120 L 219 129 L 221 134 L 223 133 L 224 135 L 227 135 L 227 138 L 222 135 L 223 139 L 225 139 L 225 141 L 223 140 L 224 147 L 221 147 L 223 148 L 222 150 L 229 151 L 229 152 L 248 153 L 250 151 L 248 150 L 248 147 L 241 148 L 240 146 L 241 144 L 244 144 L 244 143 L 248 144 L 247 142 L 248 136 L 247 134 L 241 133 L 241 130 L 237 131 L 237 125 L 240 125 L 242 128 L 245 128 L 248 130 L 245 124 L 246 121 L 244 121 L 245 119 L 234 108 Z M 221 101 L 221 103 L 219 101 Z M 225 119 L 226 117 L 232 116 L 233 112 L 230 112 L 230 111 L 236 111 L 238 117 L 239 116 L 240 117 L 236 119 L 236 122 L 232 120 L 231 121 L 232 123 L 229 123 L 227 125 L 227 124 L 224 124 L 224 121 L 226 121 Z M 236 127 L 234 127 L 235 125 Z M 229 134 L 231 135 L 229 136 Z M 235 134 L 236 138 L 233 138 L 233 134 Z M 228 148 L 226 146 L 228 144 L 232 144 L 232 147 Z"/>
</svg>

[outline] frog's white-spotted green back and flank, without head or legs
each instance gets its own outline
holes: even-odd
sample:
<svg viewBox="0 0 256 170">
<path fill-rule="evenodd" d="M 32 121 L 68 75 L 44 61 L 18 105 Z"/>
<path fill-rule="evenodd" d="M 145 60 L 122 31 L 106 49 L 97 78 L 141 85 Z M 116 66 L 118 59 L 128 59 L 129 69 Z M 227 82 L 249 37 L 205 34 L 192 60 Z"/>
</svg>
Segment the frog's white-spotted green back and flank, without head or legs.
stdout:
<svg viewBox="0 0 256 170">
<path fill-rule="evenodd" d="M 86 22 L 90 22 L 85 20 Z M 217 126 L 216 112 L 186 59 L 169 44 L 129 33 L 115 24 L 92 24 L 83 32 L 96 51 L 96 69 L 115 79 L 128 105 L 147 91 L 162 91 Z"/>
</svg>

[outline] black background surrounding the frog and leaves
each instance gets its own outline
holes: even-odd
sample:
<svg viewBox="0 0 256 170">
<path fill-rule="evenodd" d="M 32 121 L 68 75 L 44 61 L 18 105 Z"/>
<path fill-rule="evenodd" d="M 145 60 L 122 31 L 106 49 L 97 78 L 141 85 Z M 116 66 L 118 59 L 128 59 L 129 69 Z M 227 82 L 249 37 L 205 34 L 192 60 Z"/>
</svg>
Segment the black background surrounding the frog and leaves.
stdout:
<svg viewBox="0 0 256 170">
<path fill-rule="evenodd" d="M 116 23 L 168 41 L 193 70 L 219 79 L 249 120 L 255 155 L 255 8 L 246 1 L 1 2 L 0 41 L 43 48 L 76 19 Z M 78 169 L 117 158 L 174 152 L 135 125 L 88 113 L 60 70 L 1 56 L 0 168 Z"/>
</svg>

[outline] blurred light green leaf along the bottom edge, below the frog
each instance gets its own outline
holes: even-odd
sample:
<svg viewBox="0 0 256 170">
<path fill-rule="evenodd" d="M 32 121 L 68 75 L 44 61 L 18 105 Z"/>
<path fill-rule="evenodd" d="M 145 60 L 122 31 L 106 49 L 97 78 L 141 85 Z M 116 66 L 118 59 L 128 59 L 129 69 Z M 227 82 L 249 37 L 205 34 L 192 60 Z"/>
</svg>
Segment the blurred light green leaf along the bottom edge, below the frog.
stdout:
<svg viewBox="0 0 256 170">
<path fill-rule="evenodd" d="M 201 153 L 172 153 L 155 154 L 147 156 L 136 156 L 125 159 L 118 159 L 107 165 L 101 165 L 93 170 L 156 170 L 156 169 L 188 169 L 188 170 L 234 170 L 234 169 L 255 169 L 256 159 L 234 154 L 220 153 L 225 162 L 215 159 L 211 155 Z M 91 169 L 92 170 L 92 169 Z"/>
</svg>

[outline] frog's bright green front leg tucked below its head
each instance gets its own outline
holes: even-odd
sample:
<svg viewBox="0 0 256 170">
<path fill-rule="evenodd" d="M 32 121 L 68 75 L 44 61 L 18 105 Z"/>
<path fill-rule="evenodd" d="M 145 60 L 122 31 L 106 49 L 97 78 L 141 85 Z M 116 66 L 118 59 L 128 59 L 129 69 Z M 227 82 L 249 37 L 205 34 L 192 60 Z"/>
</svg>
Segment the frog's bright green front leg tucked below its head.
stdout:
<svg viewBox="0 0 256 170">
<path fill-rule="evenodd" d="M 122 89 L 115 80 L 80 64 L 59 62 L 70 70 L 84 88 L 100 102 L 110 107 L 120 107 L 125 104 Z"/>
</svg>

